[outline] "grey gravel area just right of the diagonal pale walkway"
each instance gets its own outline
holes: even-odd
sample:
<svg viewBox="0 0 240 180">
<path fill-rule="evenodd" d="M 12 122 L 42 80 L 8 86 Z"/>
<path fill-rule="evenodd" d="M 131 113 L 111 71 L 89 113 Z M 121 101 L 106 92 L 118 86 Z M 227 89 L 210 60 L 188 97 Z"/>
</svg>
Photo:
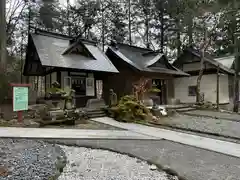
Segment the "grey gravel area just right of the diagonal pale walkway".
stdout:
<svg viewBox="0 0 240 180">
<path fill-rule="evenodd" d="M 169 118 L 162 118 L 158 123 L 240 138 L 240 122 L 237 121 L 178 114 Z"/>
</svg>

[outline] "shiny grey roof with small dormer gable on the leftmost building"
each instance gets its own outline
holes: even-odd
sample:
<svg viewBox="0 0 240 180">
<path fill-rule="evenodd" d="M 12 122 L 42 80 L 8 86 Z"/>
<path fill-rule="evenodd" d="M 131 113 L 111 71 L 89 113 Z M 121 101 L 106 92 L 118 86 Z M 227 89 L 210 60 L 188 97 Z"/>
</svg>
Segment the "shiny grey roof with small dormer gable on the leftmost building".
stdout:
<svg viewBox="0 0 240 180">
<path fill-rule="evenodd" d="M 92 41 L 78 39 L 77 42 L 71 43 L 72 37 L 42 31 L 30 34 L 30 38 L 43 66 L 118 72 L 104 52 Z M 76 45 L 81 45 L 91 56 L 70 53 Z"/>
</svg>

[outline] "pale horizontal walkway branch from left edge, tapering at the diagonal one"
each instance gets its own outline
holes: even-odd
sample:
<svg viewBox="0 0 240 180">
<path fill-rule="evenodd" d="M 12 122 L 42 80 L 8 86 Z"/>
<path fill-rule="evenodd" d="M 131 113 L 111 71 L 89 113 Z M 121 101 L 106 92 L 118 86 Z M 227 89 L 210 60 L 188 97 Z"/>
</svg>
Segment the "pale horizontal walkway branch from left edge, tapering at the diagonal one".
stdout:
<svg viewBox="0 0 240 180">
<path fill-rule="evenodd" d="M 156 137 L 130 131 L 50 128 L 0 128 L 0 137 L 44 139 L 157 139 Z"/>
</svg>

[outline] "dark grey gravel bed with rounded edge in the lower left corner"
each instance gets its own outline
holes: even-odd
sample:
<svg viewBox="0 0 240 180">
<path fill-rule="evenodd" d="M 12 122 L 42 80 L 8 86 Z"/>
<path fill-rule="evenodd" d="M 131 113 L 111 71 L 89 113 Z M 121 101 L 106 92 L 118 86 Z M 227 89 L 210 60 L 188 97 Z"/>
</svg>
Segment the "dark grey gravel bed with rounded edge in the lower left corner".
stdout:
<svg viewBox="0 0 240 180">
<path fill-rule="evenodd" d="M 0 180 L 49 180 L 64 167 L 59 146 L 42 141 L 0 139 Z"/>
</svg>

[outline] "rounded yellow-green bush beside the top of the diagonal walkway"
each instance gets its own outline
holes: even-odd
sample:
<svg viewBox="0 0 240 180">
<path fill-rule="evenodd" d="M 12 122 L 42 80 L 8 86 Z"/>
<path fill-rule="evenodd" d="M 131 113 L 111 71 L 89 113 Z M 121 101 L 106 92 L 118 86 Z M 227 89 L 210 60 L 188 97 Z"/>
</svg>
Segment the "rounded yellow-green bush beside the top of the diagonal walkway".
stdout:
<svg viewBox="0 0 240 180">
<path fill-rule="evenodd" d="M 111 117 L 122 122 L 144 121 L 151 115 L 150 111 L 134 96 L 124 96 L 115 107 L 108 110 Z"/>
</svg>

